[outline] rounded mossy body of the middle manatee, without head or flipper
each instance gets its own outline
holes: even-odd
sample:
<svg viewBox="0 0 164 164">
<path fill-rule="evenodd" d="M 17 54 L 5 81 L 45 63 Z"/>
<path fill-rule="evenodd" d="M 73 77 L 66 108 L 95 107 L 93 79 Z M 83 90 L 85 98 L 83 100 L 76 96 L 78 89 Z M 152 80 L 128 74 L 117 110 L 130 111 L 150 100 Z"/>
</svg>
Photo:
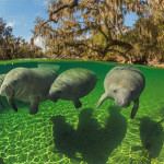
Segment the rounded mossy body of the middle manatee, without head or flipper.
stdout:
<svg viewBox="0 0 164 164">
<path fill-rule="evenodd" d="M 63 87 L 65 98 L 83 97 L 89 94 L 97 82 L 96 74 L 87 69 L 73 68 L 62 72 L 52 85 Z"/>
</svg>

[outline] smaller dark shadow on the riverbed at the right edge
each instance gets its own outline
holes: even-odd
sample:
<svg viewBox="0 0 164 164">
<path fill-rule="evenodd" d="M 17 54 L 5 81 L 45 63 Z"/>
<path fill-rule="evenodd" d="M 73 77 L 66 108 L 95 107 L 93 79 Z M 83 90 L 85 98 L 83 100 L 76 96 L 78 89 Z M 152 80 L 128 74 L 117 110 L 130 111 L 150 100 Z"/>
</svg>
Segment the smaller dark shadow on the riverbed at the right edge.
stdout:
<svg viewBox="0 0 164 164">
<path fill-rule="evenodd" d="M 157 157 L 163 148 L 164 131 L 161 124 L 164 119 L 154 121 L 150 117 L 142 117 L 139 120 L 142 147 L 132 147 L 132 151 L 142 150 L 141 155 L 147 159 L 147 163 L 151 164 L 151 160 Z"/>
</svg>

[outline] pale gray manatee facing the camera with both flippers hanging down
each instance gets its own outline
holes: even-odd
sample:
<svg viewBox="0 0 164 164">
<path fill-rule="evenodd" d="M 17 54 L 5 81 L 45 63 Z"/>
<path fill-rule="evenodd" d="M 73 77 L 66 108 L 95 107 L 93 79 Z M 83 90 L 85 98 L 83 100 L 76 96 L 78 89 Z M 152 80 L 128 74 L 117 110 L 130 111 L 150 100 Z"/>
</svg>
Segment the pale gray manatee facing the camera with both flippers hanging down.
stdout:
<svg viewBox="0 0 164 164">
<path fill-rule="evenodd" d="M 131 101 L 134 103 L 131 118 L 134 118 L 139 108 L 139 97 L 145 85 L 143 73 L 132 66 L 118 66 L 113 68 L 104 80 L 105 93 L 97 103 L 112 98 L 119 107 L 128 107 Z"/>
</svg>

